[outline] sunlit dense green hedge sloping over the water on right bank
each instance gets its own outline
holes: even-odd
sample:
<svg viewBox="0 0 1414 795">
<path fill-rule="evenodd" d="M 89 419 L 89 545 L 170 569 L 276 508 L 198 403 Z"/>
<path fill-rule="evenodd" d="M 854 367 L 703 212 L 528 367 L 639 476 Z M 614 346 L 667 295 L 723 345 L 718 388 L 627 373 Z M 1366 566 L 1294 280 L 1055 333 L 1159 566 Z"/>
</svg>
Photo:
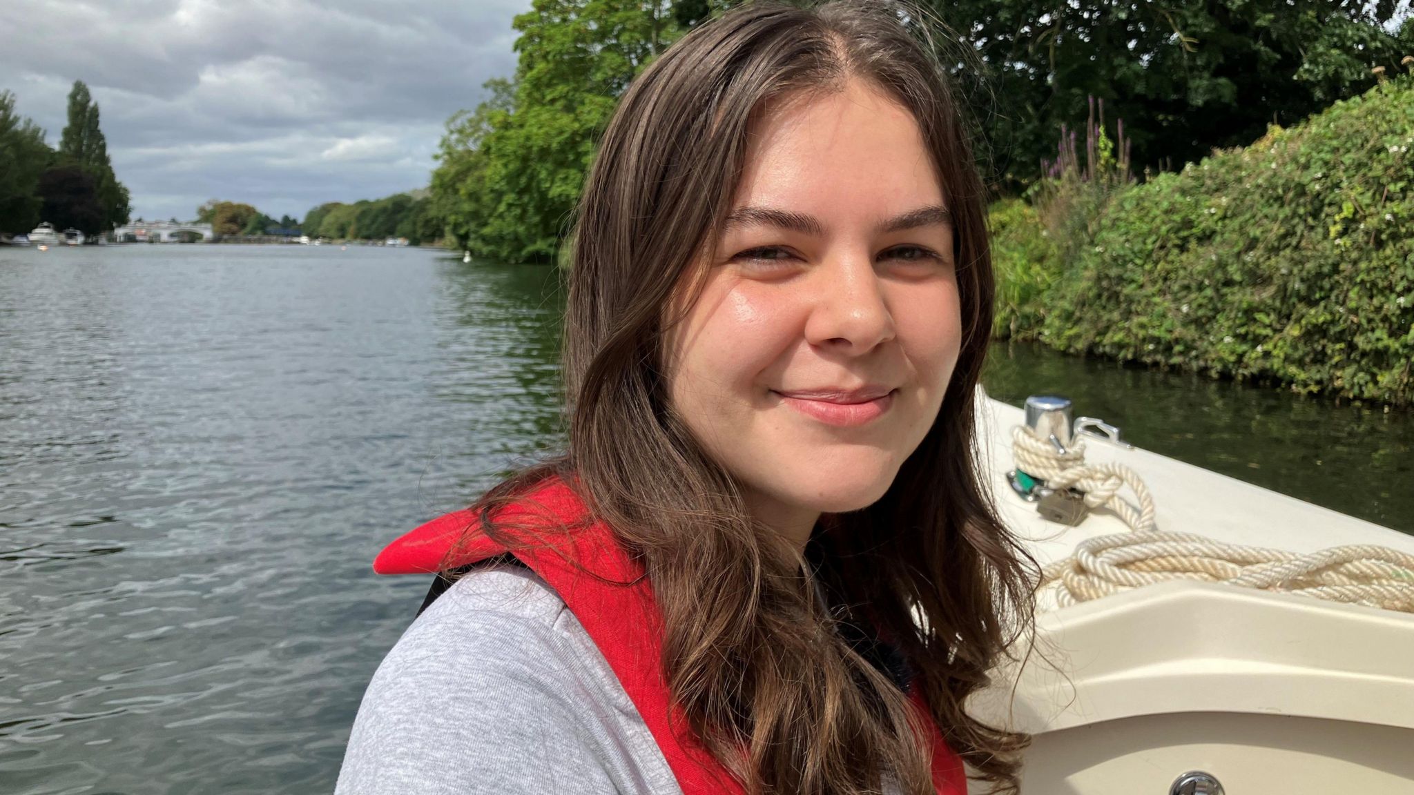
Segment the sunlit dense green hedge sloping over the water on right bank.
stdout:
<svg viewBox="0 0 1414 795">
<path fill-rule="evenodd" d="M 1028 334 L 1414 403 L 1414 76 L 1124 190 L 1087 229 Z"/>
</svg>

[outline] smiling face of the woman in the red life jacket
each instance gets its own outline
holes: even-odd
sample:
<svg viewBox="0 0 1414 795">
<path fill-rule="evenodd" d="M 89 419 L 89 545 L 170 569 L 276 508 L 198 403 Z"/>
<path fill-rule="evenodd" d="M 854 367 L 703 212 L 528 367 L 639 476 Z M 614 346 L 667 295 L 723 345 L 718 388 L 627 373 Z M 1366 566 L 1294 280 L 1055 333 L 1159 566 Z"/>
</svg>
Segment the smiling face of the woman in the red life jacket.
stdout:
<svg viewBox="0 0 1414 795">
<path fill-rule="evenodd" d="M 952 224 L 912 115 L 850 81 L 761 119 L 724 226 L 669 335 L 670 399 L 803 545 L 822 512 L 878 501 L 937 416 L 962 337 Z"/>
</svg>

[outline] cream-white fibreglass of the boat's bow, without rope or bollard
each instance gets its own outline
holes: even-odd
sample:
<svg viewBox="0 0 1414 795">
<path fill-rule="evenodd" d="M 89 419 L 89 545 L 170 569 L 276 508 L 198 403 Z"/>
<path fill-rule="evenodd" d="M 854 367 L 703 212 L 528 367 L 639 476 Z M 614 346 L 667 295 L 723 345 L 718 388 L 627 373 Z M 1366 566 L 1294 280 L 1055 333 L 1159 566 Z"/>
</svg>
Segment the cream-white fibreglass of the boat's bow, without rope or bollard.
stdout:
<svg viewBox="0 0 1414 795">
<path fill-rule="evenodd" d="M 1130 532 L 1107 511 L 1075 528 L 1042 519 L 1005 480 L 1021 409 L 984 396 L 978 407 L 998 509 L 1039 563 Z M 1414 536 L 1145 450 L 1094 440 L 1086 458 L 1138 471 L 1162 530 L 1295 553 L 1414 553 Z M 1168 795 L 1192 771 L 1227 795 L 1414 794 L 1414 614 L 1184 580 L 1042 601 L 1031 651 L 969 703 L 1034 736 L 1024 795 Z"/>
</svg>

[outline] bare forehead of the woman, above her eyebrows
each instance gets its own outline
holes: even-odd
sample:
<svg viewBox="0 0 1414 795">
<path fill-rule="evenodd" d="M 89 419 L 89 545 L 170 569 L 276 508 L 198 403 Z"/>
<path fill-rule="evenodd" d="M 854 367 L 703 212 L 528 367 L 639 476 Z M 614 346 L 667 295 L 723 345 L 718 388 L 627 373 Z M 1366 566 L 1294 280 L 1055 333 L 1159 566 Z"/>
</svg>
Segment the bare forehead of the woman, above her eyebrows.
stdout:
<svg viewBox="0 0 1414 795">
<path fill-rule="evenodd" d="M 789 207 L 836 219 L 942 204 L 937 170 L 913 115 L 861 81 L 764 108 L 734 198 L 735 207 Z"/>
</svg>

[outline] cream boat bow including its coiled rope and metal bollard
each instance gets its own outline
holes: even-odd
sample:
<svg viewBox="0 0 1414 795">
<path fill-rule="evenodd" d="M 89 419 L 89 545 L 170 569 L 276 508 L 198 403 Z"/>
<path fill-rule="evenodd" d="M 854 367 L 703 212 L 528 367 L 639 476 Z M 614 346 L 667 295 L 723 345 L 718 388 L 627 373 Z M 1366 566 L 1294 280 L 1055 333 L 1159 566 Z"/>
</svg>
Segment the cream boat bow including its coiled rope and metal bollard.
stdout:
<svg viewBox="0 0 1414 795">
<path fill-rule="evenodd" d="M 1051 583 L 1024 662 L 969 704 L 1034 736 L 1022 794 L 1414 792 L 1414 536 L 1028 406 L 978 390 L 981 460 Z M 1127 470 L 1151 499 L 1048 489 L 1014 441 L 1034 426 L 1104 468 L 1092 487 Z"/>
</svg>

